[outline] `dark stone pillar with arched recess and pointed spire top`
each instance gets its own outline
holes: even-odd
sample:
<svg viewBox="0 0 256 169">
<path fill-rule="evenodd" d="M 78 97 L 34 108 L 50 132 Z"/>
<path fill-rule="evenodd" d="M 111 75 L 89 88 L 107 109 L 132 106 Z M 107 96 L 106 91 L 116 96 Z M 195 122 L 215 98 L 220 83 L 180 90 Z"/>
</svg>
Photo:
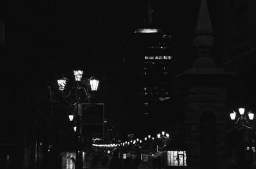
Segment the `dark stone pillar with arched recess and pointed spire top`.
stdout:
<svg viewBox="0 0 256 169">
<path fill-rule="evenodd" d="M 175 91 L 184 97 L 188 168 L 225 168 L 227 85 L 234 74 L 216 68 L 212 33 L 207 3 L 202 0 L 193 41 L 197 58 L 175 80 Z"/>
</svg>

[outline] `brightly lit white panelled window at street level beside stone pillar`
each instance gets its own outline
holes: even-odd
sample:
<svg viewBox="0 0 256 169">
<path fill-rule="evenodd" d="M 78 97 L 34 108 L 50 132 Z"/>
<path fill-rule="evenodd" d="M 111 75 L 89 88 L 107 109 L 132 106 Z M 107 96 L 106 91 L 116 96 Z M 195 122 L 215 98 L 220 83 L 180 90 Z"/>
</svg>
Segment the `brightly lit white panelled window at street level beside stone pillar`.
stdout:
<svg viewBox="0 0 256 169">
<path fill-rule="evenodd" d="M 186 151 L 167 151 L 168 166 L 187 166 Z"/>
</svg>

